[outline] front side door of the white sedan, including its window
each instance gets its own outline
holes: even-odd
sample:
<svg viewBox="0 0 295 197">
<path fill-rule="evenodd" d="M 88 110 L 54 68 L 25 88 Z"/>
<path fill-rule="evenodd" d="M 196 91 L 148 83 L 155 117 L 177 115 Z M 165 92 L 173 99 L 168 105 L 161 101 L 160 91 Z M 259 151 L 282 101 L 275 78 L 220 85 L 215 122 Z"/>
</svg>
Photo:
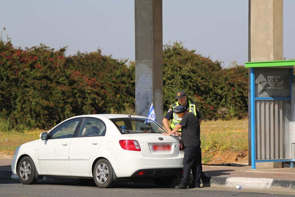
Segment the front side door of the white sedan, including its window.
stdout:
<svg viewBox="0 0 295 197">
<path fill-rule="evenodd" d="M 69 149 L 81 118 L 71 119 L 54 128 L 47 140 L 42 140 L 39 149 L 39 164 L 42 174 L 70 173 Z"/>
</svg>

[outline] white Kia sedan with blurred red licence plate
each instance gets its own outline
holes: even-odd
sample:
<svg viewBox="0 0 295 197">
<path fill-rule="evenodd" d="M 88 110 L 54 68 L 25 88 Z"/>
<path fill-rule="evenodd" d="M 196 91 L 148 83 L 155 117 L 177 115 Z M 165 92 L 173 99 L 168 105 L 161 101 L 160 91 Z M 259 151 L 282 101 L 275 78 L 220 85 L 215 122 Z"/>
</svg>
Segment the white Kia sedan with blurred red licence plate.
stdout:
<svg viewBox="0 0 295 197">
<path fill-rule="evenodd" d="M 163 132 L 143 116 L 75 116 L 17 147 L 12 172 L 23 184 L 43 176 L 92 178 L 102 188 L 136 177 L 169 184 L 182 173 L 184 147 L 180 137 Z"/>
</svg>

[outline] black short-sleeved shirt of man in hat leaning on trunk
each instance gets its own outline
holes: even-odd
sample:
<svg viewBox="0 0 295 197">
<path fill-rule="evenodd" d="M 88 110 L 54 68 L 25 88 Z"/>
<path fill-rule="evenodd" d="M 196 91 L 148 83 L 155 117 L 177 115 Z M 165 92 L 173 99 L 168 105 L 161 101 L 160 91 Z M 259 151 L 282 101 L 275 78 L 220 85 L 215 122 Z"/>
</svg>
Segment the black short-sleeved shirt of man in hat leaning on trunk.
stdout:
<svg viewBox="0 0 295 197">
<path fill-rule="evenodd" d="M 199 119 L 192 112 L 184 114 L 179 123 L 181 128 L 181 139 L 184 146 L 200 146 L 200 123 Z"/>
</svg>

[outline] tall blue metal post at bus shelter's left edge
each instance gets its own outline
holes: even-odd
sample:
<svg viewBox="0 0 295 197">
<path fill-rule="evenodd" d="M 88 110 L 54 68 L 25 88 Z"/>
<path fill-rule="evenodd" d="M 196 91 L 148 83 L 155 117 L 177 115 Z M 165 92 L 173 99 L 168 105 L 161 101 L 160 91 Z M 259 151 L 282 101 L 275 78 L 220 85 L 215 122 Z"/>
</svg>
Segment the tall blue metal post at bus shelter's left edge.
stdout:
<svg viewBox="0 0 295 197">
<path fill-rule="evenodd" d="M 252 169 L 256 169 L 255 163 L 255 83 L 254 83 L 254 68 L 251 68 L 251 162 Z"/>
</svg>

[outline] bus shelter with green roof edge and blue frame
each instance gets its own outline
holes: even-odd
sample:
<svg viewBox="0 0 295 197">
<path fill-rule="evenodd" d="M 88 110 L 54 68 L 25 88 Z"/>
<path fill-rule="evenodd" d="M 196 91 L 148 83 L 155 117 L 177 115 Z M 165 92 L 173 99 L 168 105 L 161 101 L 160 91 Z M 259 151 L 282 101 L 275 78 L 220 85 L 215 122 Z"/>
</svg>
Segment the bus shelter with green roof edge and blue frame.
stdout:
<svg viewBox="0 0 295 197">
<path fill-rule="evenodd" d="M 257 162 L 290 162 L 294 167 L 295 60 L 245 64 L 251 70 L 252 169 Z"/>
</svg>

